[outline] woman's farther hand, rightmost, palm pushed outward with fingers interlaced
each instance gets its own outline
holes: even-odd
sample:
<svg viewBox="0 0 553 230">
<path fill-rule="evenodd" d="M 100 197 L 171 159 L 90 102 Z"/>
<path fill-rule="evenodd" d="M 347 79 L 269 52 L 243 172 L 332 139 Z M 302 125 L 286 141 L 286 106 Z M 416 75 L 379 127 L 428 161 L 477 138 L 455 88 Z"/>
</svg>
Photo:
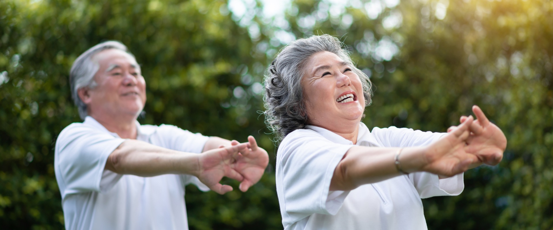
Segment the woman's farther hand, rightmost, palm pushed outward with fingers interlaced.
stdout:
<svg viewBox="0 0 553 230">
<path fill-rule="evenodd" d="M 470 126 L 471 135 L 467 138 L 466 151 L 475 154 L 479 161 L 484 164 L 499 164 L 503 159 L 503 152 L 507 147 L 507 138 L 505 138 L 503 131 L 499 127 L 489 122 L 486 115 L 484 115 L 478 106 L 472 106 L 472 111 L 476 115 L 477 120 L 472 122 Z M 466 116 L 461 116 L 460 121 L 464 122 L 466 119 Z M 452 126 L 447 132 L 454 129 L 455 126 Z M 471 168 L 476 166 L 472 165 Z"/>
</svg>

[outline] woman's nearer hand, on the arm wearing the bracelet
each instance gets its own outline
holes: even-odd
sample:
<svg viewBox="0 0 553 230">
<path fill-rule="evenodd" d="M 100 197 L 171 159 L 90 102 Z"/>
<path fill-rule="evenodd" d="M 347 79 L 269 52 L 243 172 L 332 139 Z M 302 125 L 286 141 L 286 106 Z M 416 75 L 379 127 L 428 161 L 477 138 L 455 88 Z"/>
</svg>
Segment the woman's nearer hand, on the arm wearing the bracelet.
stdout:
<svg viewBox="0 0 553 230">
<path fill-rule="evenodd" d="M 472 116 L 467 117 L 461 125 L 427 146 L 424 154 L 426 164 L 422 171 L 448 177 L 465 172 L 469 165 L 478 162 L 475 154 L 466 151 L 473 120 Z"/>
</svg>

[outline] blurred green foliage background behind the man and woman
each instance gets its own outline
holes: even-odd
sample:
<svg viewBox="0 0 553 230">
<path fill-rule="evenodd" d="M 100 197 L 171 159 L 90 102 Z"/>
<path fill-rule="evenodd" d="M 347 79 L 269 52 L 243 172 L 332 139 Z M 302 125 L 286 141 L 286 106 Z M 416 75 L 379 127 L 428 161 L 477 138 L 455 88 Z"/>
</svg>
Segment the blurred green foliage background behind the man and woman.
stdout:
<svg viewBox="0 0 553 230">
<path fill-rule="evenodd" d="M 63 228 L 54 143 L 80 122 L 69 69 L 119 40 L 147 81 L 142 124 L 253 135 L 269 152 L 246 193 L 188 186 L 190 229 L 282 229 L 262 79 L 283 45 L 312 34 L 340 38 L 371 77 L 368 127 L 444 132 L 477 104 L 505 132 L 502 163 L 469 170 L 460 196 L 424 200 L 430 229 L 553 228 L 549 0 L 2 0 L 1 228 Z"/>
</svg>

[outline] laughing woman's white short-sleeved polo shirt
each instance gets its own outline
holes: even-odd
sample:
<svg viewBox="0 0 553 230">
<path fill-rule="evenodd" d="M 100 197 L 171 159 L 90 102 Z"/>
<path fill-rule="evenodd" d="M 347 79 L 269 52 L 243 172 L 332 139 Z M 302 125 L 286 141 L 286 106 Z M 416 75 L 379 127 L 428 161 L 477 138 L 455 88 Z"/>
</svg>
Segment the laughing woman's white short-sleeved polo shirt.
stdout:
<svg viewBox="0 0 553 230">
<path fill-rule="evenodd" d="M 360 124 L 357 145 L 425 146 L 444 133 Z M 458 195 L 463 174 L 438 179 L 411 173 L 351 191 L 328 191 L 334 169 L 351 141 L 316 126 L 295 130 L 276 154 L 276 192 L 284 229 L 427 229 L 421 198 Z"/>
</svg>

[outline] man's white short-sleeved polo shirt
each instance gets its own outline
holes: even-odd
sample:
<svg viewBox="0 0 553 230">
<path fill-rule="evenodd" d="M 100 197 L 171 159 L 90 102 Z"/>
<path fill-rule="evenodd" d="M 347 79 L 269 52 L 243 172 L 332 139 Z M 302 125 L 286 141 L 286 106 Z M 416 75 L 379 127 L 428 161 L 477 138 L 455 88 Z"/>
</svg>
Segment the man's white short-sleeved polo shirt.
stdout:
<svg viewBox="0 0 553 230">
<path fill-rule="evenodd" d="M 171 125 L 140 125 L 137 140 L 200 153 L 208 139 Z M 122 175 L 105 169 L 125 140 L 92 117 L 61 131 L 54 168 L 66 229 L 188 229 L 184 186 L 208 188 L 190 175 Z"/>
</svg>

